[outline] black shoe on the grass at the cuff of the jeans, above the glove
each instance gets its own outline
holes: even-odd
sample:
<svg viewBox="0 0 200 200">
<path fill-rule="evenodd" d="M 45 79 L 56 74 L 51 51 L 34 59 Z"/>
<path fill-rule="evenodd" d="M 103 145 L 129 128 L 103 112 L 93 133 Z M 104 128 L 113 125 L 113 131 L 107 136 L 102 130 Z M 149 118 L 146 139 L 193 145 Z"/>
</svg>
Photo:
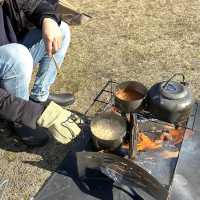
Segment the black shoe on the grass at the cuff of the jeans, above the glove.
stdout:
<svg viewBox="0 0 200 200">
<path fill-rule="evenodd" d="M 74 103 L 75 97 L 71 93 L 49 94 L 47 102 L 54 101 L 60 106 L 69 106 Z"/>
</svg>

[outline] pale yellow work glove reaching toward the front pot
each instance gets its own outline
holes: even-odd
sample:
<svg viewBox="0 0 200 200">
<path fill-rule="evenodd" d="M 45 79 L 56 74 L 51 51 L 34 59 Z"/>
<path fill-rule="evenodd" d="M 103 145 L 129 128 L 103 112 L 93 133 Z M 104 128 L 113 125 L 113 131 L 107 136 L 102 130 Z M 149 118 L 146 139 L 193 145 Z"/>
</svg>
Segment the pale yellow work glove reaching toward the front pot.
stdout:
<svg viewBox="0 0 200 200">
<path fill-rule="evenodd" d="M 54 102 L 50 102 L 38 119 L 39 126 L 48 128 L 52 136 L 62 144 L 67 144 L 79 135 L 81 129 L 74 122 L 72 113 Z"/>
</svg>

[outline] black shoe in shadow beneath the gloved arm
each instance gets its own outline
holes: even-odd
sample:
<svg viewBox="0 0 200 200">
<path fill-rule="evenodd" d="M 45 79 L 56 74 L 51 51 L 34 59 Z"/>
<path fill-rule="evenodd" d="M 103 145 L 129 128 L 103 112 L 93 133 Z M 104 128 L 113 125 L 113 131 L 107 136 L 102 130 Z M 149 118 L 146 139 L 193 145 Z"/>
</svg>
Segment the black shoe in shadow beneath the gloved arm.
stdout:
<svg viewBox="0 0 200 200">
<path fill-rule="evenodd" d="M 31 147 L 44 146 L 49 139 L 45 128 L 31 129 L 27 126 L 14 124 L 12 129 L 24 144 Z"/>
</svg>

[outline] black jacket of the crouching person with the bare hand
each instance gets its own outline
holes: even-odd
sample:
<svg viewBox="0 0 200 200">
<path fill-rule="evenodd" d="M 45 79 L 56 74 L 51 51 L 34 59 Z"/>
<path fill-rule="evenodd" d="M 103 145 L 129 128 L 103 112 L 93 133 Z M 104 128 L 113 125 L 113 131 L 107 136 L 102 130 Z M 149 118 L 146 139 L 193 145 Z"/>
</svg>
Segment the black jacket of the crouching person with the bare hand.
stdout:
<svg viewBox="0 0 200 200">
<path fill-rule="evenodd" d="M 18 39 L 22 38 L 33 26 L 41 28 L 45 17 L 60 24 L 56 11 L 57 0 L 5 0 L 3 10 L 9 16 Z"/>
</svg>

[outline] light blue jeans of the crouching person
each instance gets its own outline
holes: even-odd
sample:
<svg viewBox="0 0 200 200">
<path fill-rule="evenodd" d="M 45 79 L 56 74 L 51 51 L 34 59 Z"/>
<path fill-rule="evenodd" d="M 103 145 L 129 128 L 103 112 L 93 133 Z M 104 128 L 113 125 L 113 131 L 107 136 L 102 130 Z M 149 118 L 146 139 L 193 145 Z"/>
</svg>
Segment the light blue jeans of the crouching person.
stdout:
<svg viewBox="0 0 200 200">
<path fill-rule="evenodd" d="M 63 41 L 55 54 L 58 65 L 62 64 L 70 42 L 68 25 L 62 22 L 60 29 Z M 36 64 L 39 64 L 39 68 L 30 97 L 36 101 L 46 101 L 49 88 L 56 79 L 57 69 L 53 59 L 47 55 L 39 29 L 29 32 L 21 44 L 12 43 L 0 47 L 1 87 L 17 97 L 28 100 L 32 70 Z"/>
</svg>

